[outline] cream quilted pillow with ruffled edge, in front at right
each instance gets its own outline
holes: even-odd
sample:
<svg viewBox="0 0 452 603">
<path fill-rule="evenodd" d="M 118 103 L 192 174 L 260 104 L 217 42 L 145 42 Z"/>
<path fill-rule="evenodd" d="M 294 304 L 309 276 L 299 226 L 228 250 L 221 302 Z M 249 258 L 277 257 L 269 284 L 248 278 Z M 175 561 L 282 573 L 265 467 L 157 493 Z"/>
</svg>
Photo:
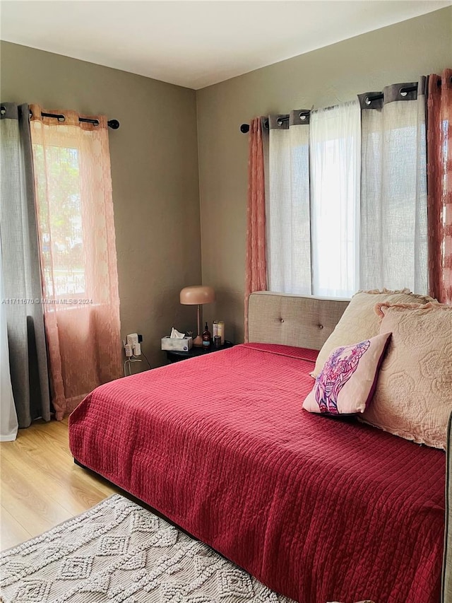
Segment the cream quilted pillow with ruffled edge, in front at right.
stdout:
<svg viewBox="0 0 452 603">
<path fill-rule="evenodd" d="M 367 423 L 446 449 L 452 412 L 452 306 L 378 304 L 380 333 L 391 332 Z"/>
</svg>

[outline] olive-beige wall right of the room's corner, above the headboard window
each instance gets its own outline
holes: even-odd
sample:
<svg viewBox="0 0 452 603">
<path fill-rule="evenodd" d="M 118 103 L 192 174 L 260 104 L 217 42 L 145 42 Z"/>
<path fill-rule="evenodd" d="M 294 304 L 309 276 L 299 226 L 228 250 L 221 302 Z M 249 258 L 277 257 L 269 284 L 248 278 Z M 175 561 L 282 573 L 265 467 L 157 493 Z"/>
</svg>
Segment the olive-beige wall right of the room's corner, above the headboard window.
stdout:
<svg viewBox="0 0 452 603">
<path fill-rule="evenodd" d="M 203 283 L 217 291 L 207 318 L 243 341 L 248 136 L 256 115 L 326 107 L 357 93 L 451 66 L 452 8 L 354 37 L 198 90 Z"/>
</svg>

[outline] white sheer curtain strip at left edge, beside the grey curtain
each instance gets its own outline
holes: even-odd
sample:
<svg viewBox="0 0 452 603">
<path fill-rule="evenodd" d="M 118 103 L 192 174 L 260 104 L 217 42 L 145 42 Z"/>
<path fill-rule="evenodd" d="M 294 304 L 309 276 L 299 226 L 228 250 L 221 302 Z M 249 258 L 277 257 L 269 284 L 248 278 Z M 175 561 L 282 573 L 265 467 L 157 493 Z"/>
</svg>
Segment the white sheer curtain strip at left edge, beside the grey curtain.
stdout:
<svg viewBox="0 0 452 603">
<path fill-rule="evenodd" d="M 1 239 L 1 233 L 0 233 Z M 0 300 L 5 299 L 3 260 L 0 245 Z M 0 303 L 0 442 L 16 440 L 18 422 L 14 406 L 11 373 L 9 371 L 8 330 L 6 327 L 6 305 Z"/>
</svg>

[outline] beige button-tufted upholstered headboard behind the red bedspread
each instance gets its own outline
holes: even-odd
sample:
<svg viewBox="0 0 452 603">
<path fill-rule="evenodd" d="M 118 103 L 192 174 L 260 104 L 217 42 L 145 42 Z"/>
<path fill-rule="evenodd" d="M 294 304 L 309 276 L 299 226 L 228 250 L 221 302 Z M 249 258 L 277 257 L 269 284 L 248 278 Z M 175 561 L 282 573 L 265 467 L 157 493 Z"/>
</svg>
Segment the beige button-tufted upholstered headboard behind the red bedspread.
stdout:
<svg viewBox="0 0 452 603">
<path fill-rule="evenodd" d="M 248 339 L 319 350 L 348 300 L 256 291 L 249 296 Z"/>
</svg>

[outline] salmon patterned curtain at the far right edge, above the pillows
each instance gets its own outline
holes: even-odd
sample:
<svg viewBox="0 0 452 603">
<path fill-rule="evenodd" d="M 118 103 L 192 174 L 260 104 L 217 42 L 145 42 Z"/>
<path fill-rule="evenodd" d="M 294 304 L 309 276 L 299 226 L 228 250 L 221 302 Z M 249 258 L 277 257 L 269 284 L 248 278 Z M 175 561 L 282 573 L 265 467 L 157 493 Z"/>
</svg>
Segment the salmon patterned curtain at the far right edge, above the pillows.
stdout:
<svg viewBox="0 0 452 603">
<path fill-rule="evenodd" d="M 427 178 L 430 295 L 452 303 L 452 69 L 429 76 Z"/>
</svg>

